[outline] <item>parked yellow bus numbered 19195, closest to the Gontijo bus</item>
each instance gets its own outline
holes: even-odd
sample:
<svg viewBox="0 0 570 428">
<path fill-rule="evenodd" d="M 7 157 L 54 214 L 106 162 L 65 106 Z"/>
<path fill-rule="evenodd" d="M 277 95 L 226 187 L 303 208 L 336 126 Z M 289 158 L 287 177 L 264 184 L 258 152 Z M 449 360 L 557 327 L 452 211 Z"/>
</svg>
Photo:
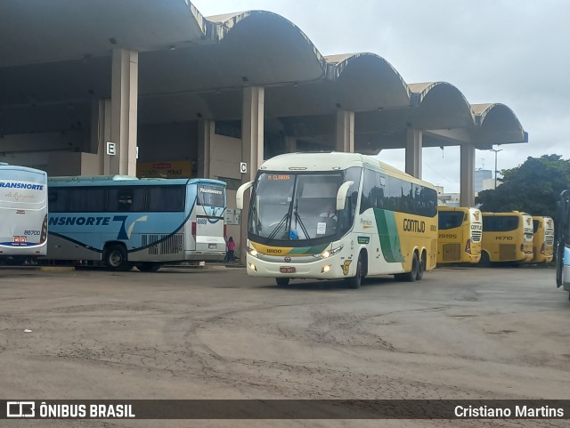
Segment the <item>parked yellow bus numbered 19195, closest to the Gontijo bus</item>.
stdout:
<svg viewBox="0 0 570 428">
<path fill-rule="evenodd" d="M 438 206 L 437 264 L 478 263 L 483 218 L 477 208 Z"/>
</svg>

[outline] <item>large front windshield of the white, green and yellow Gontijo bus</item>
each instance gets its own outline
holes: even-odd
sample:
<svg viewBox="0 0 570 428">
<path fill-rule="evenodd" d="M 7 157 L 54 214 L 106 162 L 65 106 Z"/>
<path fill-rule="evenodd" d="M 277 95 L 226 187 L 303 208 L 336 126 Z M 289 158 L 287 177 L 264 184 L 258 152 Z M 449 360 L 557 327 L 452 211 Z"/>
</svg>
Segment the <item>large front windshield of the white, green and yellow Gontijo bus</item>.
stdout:
<svg viewBox="0 0 570 428">
<path fill-rule="evenodd" d="M 251 201 L 249 233 L 289 241 L 336 235 L 341 229 L 337 192 L 343 182 L 342 172 L 259 174 Z"/>
</svg>

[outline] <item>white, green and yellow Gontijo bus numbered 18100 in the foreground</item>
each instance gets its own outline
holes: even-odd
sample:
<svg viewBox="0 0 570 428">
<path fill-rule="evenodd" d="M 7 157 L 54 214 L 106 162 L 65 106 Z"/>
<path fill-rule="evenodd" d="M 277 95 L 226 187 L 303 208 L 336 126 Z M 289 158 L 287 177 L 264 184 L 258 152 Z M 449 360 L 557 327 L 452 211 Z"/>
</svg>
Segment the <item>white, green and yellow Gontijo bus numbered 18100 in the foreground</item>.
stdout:
<svg viewBox="0 0 570 428">
<path fill-rule="evenodd" d="M 248 214 L 248 275 L 346 279 L 369 275 L 421 279 L 436 267 L 437 194 L 373 157 L 291 153 L 267 160 L 253 186 Z"/>
</svg>

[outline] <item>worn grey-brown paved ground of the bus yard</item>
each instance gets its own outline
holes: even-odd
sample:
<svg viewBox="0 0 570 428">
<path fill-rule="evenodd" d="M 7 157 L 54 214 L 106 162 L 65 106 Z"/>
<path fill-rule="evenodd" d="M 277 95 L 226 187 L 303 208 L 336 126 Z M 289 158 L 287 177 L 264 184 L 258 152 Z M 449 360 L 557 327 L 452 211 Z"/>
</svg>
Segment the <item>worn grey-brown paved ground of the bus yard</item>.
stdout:
<svg viewBox="0 0 570 428">
<path fill-rule="evenodd" d="M 570 399 L 570 303 L 550 269 L 418 283 L 241 269 L 0 269 L 6 399 Z M 24 330 L 32 330 L 25 333 Z M 4 421 L 5 423 L 6 421 Z M 2 426 L 380 426 L 378 421 L 24 421 Z M 383 421 L 381 426 L 566 426 Z"/>
</svg>

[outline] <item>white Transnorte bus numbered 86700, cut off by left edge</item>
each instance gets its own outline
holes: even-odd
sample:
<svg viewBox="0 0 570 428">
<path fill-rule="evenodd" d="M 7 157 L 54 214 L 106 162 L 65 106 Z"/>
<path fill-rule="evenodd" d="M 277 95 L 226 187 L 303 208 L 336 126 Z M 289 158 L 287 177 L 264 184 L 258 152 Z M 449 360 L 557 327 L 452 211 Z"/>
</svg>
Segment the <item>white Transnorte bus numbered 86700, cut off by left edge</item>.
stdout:
<svg viewBox="0 0 570 428">
<path fill-rule="evenodd" d="M 0 163 L 0 257 L 20 264 L 45 255 L 47 174 Z"/>
</svg>

